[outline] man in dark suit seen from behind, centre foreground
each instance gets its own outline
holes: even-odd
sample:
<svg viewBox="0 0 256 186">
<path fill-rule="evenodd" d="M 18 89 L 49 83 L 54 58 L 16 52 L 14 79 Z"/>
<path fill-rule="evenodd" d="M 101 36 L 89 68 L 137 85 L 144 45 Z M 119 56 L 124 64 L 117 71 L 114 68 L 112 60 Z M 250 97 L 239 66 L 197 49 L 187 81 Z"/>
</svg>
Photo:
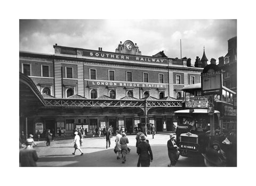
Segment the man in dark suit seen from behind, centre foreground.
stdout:
<svg viewBox="0 0 256 186">
<path fill-rule="evenodd" d="M 146 142 L 146 137 L 144 134 L 140 136 L 141 143 L 137 147 L 137 154 L 139 155 L 139 160 L 142 167 L 149 167 L 150 162 L 153 161 L 153 153 L 149 143 Z M 139 164 L 137 165 L 139 166 Z"/>
</svg>

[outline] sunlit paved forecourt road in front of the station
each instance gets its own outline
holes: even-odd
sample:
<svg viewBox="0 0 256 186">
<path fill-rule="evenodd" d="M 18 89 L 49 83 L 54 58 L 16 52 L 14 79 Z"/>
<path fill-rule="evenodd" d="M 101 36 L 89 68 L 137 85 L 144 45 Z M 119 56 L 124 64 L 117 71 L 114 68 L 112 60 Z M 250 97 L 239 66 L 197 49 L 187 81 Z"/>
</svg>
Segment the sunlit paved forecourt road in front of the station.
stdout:
<svg viewBox="0 0 256 186">
<path fill-rule="evenodd" d="M 65 166 L 65 167 L 136 167 L 138 155 L 135 147 L 135 136 L 127 136 L 129 139 L 129 147 L 131 153 L 126 156 L 126 163 L 116 159 L 114 153 L 115 137 L 111 138 L 111 146 L 106 149 L 106 140 L 101 138 L 86 138 L 84 139 L 82 151 L 83 156 L 80 156 L 79 150 L 76 155 L 72 155 L 74 148 L 71 145 L 73 140 L 58 140 L 52 141 L 51 146 L 46 147 L 45 142 L 38 143 L 35 147 L 39 156 L 38 166 Z M 156 134 L 152 139 L 148 135 L 147 139 L 153 151 L 153 162 L 150 167 L 167 167 L 169 158 L 167 155 L 167 140 L 169 134 Z M 180 156 L 176 164 L 177 167 L 197 167 L 204 166 L 202 156 L 199 158 L 187 158 Z"/>
</svg>

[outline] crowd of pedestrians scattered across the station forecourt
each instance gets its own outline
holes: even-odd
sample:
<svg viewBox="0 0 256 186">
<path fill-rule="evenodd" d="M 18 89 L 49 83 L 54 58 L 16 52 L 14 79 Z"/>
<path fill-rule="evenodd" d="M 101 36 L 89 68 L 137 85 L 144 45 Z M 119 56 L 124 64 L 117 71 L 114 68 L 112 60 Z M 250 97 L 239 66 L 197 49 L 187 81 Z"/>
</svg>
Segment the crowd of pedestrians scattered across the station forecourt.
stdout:
<svg viewBox="0 0 256 186">
<path fill-rule="evenodd" d="M 93 129 L 94 130 L 94 129 Z M 92 132 L 93 132 L 92 130 Z M 148 137 L 147 128 L 136 128 L 134 129 L 136 132 L 135 136 L 135 147 L 137 148 L 136 153 L 138 154 L 138 163 L 137 166 L 142 167 L 148 167 L 150 166 L 150 162 L 153 161 L 153 151 L 151 150 L 151 146 L 149 144 L 149 140 L 146 139 Z M 100 132 L 99 132 L 100 131 Z M 61 132 L 61 129 L 59 129 L 59 133 Z M 103 138 L 106 139 L 106 149 L 110 147 L 111 145 L 111 138 L 113 138 L 113 128 L 110 125 L 109 128 L 103 127 L 102 129 L 99 128 L 97 130 L 98 136 L 101 137 L 101 132 L 103 134 Z M 121 159 L 122 163 L 124 164 L 127 160 L 127 154 L 130 153 L 131 149 L 129 148 L 129 139 L 126 137 L 126 129 L 121 127 L 119 130 L 115 131 L 116 138 L 115 138 L 115 147 L 114 152 L 116 153 L 116 158 Z M 51 133 L 50 129 L 45 130 L 44 137 L 46 140 L 46 146 L 51 145 L 51 140 L 53 139 L 53 133 Z M 154 125 L 151 126 L 149 134 L 152 135 L 152 139 L 154 139 L 155 136 L 155 127 Z M 71 153 L 75 155 L 76 150 L 78 149 L 83 155 L 83 151 L 81 149 L 83 139 L 87 135 L 87 129 L 76 128 L 73 130 L 73 143 L 74 146 L 74 152 Z M 94 134 L 95 135 L 95 134 Z M 36 138 L 39 140 L 42 134 L 37 131 L 36 132 Z M 60 136 L 60 135 L 59 135 Z M 36 154 L 36 150 L 33 149 L 33 146 L 37 146 L 34 139 L 33 134 L 29 134 L 28 138 L 26 138 L 26 135 L 24 132 L 21 132 L 20 135 L 20 148 L 23 148 L 20 150 L 20 164 L 21 166 L 36 166 L 36 161 L 38 160 L 38 156 Z M 95 136 L 93 136 L 95 137 Z M 177 141 L 174 139 L 174 134 L 170 134 L 170 140 L 167 141 L 167 154 L 170 159 L 170 163 L 167 164 L 167 166 L 172 167 L 175 166 L 179 159 L 179 148 L 177 146 Z M 222 141 L 222 145 L 225 144 L 227 147 L 231 147 L 230 144 L 233 142 L 236 138 L 235 133 L 231 132 L 229 137 L 227 137 L 225 140 Z M 232 142 L 230 142 L 232 141 Z M 226 149 L 225 149 L 226 150 Z M 204 157 L 204 163 L 205 166 L 230 166 L 230 164 L 236 162 L 236 159 L 233 158 L 232 154 L 226 154 L 225 151 L 221 148 L 220 141 L 218 140 L 212 140 L 209 148 L 207 148 L 206 152 L 202 154 Z M 227 158 L 228 157 L 228 158 Z M 233 158 L 233 159 L 232 159 Z M 228 160 L 231 159 L 231 160 Z"/>
</svg>

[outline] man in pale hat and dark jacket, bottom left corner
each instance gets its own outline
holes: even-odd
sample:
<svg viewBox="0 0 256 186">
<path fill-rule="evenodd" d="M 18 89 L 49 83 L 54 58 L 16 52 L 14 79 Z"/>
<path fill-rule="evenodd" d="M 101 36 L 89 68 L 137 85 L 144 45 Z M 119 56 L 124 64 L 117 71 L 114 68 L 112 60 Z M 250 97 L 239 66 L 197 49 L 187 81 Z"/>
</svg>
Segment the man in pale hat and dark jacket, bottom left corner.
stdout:
<svg viewBox="0 0 256 186">
<path fill-rule="evenodd" d="M 33 149 L 33 139 L 27 139 L 26 147 L 20 150 L 20 166 L 21 167 L 36 167 L 38 156 L 36 150 Z"/>
</svg>

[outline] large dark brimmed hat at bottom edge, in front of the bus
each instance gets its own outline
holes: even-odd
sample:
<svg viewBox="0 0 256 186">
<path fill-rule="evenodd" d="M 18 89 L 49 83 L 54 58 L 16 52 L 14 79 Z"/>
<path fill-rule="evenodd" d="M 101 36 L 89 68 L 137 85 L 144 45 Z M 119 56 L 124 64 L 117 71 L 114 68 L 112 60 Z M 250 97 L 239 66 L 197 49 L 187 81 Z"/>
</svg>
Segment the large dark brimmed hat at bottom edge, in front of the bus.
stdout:
<svg viewBox="0 0 256 186">
<path fill-rule="evenodd" d="M 206 159 L 207 163 L 210 166 L 219 167 L 222 165 L 222 160 L 219 157 L 219 153 L 217 150 L 214 150 L 212 148 L 209 148 L 206 150 L 205 154 L 202 154 L 204 158 Z"/>
</svg>

